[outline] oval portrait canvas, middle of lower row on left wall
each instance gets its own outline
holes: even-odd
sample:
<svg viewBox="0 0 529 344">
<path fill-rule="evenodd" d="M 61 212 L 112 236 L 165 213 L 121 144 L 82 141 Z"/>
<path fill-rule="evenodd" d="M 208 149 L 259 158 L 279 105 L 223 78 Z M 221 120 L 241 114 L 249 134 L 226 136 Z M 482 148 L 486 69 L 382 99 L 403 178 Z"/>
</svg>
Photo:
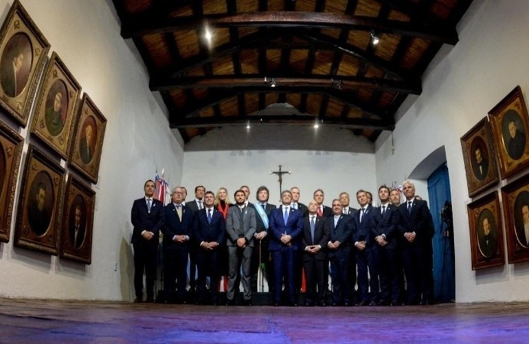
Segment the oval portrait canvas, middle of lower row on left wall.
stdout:
<svg viewBox="0 0 529 344">
<path fill-rule="evenodd" d="M 49 228 L 53 200 L 52 180 L 46 172 L 41 171 L 33 180 L 27 200 L 27 220 L 36 236 L 44 235 Z"/>
</svg>

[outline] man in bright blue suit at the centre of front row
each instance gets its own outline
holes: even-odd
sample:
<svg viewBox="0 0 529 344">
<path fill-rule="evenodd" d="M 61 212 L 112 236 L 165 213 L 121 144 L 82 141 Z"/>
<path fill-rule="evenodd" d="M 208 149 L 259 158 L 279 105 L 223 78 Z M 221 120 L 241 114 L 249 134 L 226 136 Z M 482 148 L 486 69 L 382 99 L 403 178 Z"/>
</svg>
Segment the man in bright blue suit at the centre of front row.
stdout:
<svg viewBox="0 0 529 344">
<path fill-rule="evenodd" d="M 297 305 L 295 300 L 295 272 L 300 236 L 303 233 L 303 217 L 300 211 L 291 207 L 292 193 L 281 193 L 282 205 L 270 214 L 270 246 L 273 262 L 274 303 L 281 304 L 281 291 L 284 284 L 288 290 L 289 305 Z"/>
</svg>

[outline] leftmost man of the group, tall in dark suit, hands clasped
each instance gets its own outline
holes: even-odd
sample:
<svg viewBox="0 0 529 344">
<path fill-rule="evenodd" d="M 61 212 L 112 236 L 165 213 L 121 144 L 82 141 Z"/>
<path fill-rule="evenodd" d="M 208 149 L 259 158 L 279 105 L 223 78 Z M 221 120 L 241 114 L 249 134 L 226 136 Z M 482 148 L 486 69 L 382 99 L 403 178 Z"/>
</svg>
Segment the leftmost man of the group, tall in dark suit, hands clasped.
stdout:
<svg viewBox="0 0 529 344">
<path fill-rule="evenodd" d="M 131 210 L 134 248 L 134 289 L 136 299 L 143 301 L 144 271 L 146 279 L 147 302 L 154 302 L 156 263 L 161 226 L 164 226 L 164 204 L 153 198 L 156 185 L 153 180 L 144 184 L 145 196 L 135 200 Z"/>
</svg>

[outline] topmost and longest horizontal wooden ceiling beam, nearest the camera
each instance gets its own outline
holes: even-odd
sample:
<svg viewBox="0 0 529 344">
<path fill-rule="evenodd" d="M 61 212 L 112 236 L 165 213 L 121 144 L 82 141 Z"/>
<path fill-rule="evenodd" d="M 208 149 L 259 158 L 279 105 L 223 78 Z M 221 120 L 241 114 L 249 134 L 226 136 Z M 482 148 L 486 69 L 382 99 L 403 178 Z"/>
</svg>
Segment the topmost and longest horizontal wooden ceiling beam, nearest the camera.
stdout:
<svg viewBox="0 0 529 344">
<path fill-rule="evenodd" d="M 428 41 L 455 45 L 458 32 L 455 28 L 422 25 L 372 17 L 327 12 L 252 12 L 236 14 L 206 14 L 200 17 L 167 17 L 149 12 L 131 15 L 122 20 L 122 37 L 125 39 L 145 34 L 160 34 L 179 30 L 201 30 L 204 23 L 210 28 L 335 28 L 342 30 L 375 30 L 378 33 L 415 36 Z"/>
</svg>

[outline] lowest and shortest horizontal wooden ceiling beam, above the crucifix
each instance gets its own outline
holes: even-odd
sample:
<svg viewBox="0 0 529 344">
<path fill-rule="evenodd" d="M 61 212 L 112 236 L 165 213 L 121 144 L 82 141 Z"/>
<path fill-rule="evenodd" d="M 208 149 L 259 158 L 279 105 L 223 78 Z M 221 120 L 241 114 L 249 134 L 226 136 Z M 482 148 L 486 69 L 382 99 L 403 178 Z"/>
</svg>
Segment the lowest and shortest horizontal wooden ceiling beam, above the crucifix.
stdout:
<svg viewBox="0 0 529 344">
<path fill-rule="evenodd" d="M 320 117 L 312 115 L 264 115 L 264 116 L 222 116 L 222 117 L 188 117 L 177 118 L 170 122 L 172 129 L 223 127 L 228 125 L 320 125 L 335 126 L 345 129 L 393 130 L 394 123 L 385 120 L 367 118 Z"/>
</svg>

